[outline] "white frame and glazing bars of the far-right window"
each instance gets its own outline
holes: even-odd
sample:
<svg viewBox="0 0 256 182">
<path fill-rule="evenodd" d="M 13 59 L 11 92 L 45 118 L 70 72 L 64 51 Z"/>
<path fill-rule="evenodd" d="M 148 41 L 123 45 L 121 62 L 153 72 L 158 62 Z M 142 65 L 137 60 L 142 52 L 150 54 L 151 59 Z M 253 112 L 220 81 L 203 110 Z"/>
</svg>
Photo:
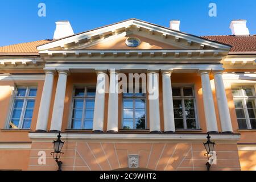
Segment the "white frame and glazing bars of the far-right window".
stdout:
<svg viewBox="0 0 256 182">
<path fill-rule="evenodd" d="M 244 88 L 251 88 L 252 92 L 253 92 L 253 96 L 246 96 L 245 92 L 244 92 Z M 249 86 L 249 85 L 244 85 L 244 86 L 232 86 L 232 90 L 233 89 L 239 89 L 240 93 L 242 93 L 241 96 L 233 96 L 233 100 L 242 100 L 242 105 L 243 105 L 243 112 L 245 113 L 245 120 L 246 120 L 246 124 L 247 124 L 247 130 L 255 130 L 251 128 L 251 122 L 250 122 L 250 117 L 249 117 L 249 113 L 247 110 L 247 105 L 246 105 L 246 101 L 247 100 L 254 100 L 254 104 L 255 104 L 255 108 L 256 108 L 256 93 L 255 93 L 255 87 L 254 86 Z M 236 107 L 235 107 L 236 110 Z M 237 121 L 238 122 L 238 121 Z M 238 126 L 239 127 L 239 126 Z M 240 129 L 240 130 L 246 130 L 246 129 Z"/>
</svg>

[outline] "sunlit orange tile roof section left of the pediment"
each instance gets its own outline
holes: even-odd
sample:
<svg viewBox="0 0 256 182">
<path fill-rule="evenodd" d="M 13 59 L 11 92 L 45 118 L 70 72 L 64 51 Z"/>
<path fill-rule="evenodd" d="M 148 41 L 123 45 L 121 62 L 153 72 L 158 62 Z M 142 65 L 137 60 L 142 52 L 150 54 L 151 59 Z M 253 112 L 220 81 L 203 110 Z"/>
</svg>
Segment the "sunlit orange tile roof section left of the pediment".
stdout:
<svg viewBox="0 0 256 182">
<path fill-rule="evenodd" d="M 10 46 L 0 47 L 0 56 L 38 56 L 37 46 L 51 42 L 51 40 L 38 40 L 28 43 L 13 44 Z"/>
</svg>

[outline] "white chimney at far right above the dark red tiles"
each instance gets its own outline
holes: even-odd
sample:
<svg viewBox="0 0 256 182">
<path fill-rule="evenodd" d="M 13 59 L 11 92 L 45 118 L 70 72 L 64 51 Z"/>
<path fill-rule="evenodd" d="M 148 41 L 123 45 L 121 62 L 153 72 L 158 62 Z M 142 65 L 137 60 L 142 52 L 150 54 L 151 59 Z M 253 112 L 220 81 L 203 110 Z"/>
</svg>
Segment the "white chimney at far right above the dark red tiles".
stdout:
<svg viewBox="0 0 256 182">
<path fill-rule="evenodd" d="M 246 27 L 246 20 L 244 19 L 238 19 L 238 20 L 232 20 L 230 23 L 229 28 L 232 31 L 232 35 L 236 36 L 249 36 L 250 32 L 248 28 Z"/>
</svg>

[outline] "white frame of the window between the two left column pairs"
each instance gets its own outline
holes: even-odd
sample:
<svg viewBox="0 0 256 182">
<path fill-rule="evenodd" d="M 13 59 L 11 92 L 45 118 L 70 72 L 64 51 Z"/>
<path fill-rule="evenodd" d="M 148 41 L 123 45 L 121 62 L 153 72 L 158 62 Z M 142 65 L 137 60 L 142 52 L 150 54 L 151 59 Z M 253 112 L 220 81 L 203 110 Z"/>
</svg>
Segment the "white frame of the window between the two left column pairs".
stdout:
<svg viewBox="0 0 256 182">
<path fill-rule="evenodd" d="M 85 92 L 84 92 L 84 96 L 75 96 L 75 92 L 76 92 L 76 89 L 77 88 L 84 88 L 85 89 Z M 92 129 L 84 129 L 84 117 L 85 117 L 85 109 L 86 109 L 86 100 L 94 100 L 94 104 L 95 104 L 95 97 L 96 96 L 86 96 L 86 93 L 87 93 L 87 89 L 96 89 L 96 86 L 84 86 L 84 85 L 77 85 L 77 86 L 74 86 L 73 87 L 73 92 L 72 92 L 72 105 L 71 105 L 71 112 L 70 112 L 70 117 L 69 117 L 69 127 L 68 129 L 71 129 L 71 130 L 92 130 Z M 81 128 L 80 129 L 73 129 L 72 128 L 72 125 L 73 125 L 73 109 L 74 109 L 74 104 L 75 104 L 75 100 L 76 99 L 80 99 L 80 100 L 83 100 L 84 103 L 83 103 L 83 106 L 82 106 L 82 118 L 81 118 Z M 95 110 L 95 105 L 94 105 L 94 109 L 93 111 Z M 94 115 L 93 115 L 94 117 Z"/>
</svg>

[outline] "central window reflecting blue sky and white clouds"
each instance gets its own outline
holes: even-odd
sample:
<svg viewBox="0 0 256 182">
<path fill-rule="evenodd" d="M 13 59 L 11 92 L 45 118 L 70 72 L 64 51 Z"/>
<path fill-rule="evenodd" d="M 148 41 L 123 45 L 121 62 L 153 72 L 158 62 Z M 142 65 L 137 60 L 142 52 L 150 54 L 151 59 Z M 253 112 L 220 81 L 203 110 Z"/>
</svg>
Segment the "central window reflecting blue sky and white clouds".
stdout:
<svg viewBox="0 0 256 182">
<path fill-rule="evenodd" d="M 146 129 L 146 94 L 123 93 L 123 129 Z"/>
</svg>

